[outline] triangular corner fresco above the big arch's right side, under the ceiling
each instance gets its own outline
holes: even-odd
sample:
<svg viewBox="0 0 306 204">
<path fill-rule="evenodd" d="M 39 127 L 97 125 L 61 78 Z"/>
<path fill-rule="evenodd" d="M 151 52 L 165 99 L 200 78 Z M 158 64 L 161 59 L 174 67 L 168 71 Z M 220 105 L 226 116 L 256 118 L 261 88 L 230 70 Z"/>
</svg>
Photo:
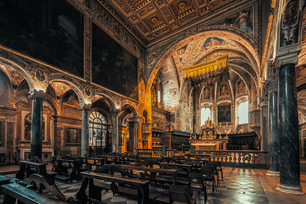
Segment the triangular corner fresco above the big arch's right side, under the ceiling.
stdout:
<svg viewBox="0 0 306 204">
<path fill-rule="evenodd" d="M 220 20 L 212 25 L 227 25 L 231 27 L 240 28 L 254 36 L 253 33 L 253 9 L 245 9 L 236 14 L 227 17 L 226 19 Z"/>
</svg>

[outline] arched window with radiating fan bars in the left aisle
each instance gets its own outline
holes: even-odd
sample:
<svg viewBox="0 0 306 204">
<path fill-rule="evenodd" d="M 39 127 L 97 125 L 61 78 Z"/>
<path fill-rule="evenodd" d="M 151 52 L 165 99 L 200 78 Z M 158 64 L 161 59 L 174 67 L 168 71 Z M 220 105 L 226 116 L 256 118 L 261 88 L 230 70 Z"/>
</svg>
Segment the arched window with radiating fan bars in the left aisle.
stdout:
<svg viewBox="0 0 306 204">
<path fill-rule="evenodd" d="M 107 121 L 104 115 L 93 111 L 89 116 L 89 145 L 95 153 L 101 153 L 102 147 L 106 147 Z"/>
</svg>

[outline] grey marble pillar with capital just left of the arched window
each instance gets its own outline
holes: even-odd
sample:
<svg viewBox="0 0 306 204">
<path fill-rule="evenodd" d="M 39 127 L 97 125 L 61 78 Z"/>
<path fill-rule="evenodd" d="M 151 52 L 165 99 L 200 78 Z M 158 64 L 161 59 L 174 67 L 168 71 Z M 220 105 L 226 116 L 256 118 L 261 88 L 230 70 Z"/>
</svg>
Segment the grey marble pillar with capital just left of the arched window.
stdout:
<svg viewBox="0 0 306 204">
<path fill-rule="evenodd" d="M 80 110 L 82 110 L 82 135 L 81 135 L 81 156 L 89 155 L 89 119 L 88 113 L 91 109 L 91 105 L 80 104 Z"/>
</svg>

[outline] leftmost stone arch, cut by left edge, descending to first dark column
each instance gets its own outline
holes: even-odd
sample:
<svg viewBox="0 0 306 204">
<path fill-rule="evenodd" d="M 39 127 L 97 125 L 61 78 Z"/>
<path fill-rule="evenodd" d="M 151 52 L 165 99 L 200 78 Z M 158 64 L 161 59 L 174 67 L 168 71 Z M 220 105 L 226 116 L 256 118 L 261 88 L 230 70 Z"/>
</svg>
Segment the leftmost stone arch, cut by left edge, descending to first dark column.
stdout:
<svg viewBox="0 0 306 204">
<path fill-rule="evenodd" d="M 0 50 L 0 60 L 16 69 L 27 80 L 31 91 L 36 88 L 31 73 L 29 73 L 29 65 L 26 62 L 4 50 Z"/>
</svg>

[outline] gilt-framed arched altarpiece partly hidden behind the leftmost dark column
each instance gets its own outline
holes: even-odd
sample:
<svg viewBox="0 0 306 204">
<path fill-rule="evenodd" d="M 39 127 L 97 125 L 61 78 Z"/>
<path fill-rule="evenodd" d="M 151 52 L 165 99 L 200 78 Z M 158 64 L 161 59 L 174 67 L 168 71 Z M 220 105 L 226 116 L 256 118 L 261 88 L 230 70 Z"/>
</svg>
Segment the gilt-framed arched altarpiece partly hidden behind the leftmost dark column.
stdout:
<svg viewBox="0 0 306 204">
<path fill-rule="evenodd" d="M 17 106 L 17 139 L 21 142 L 31 142 L 32 102 L 20 101 Z M 50 138 L 52 110 L 43 106 L 43 143 L 48 143 Z"/>
</svg>

